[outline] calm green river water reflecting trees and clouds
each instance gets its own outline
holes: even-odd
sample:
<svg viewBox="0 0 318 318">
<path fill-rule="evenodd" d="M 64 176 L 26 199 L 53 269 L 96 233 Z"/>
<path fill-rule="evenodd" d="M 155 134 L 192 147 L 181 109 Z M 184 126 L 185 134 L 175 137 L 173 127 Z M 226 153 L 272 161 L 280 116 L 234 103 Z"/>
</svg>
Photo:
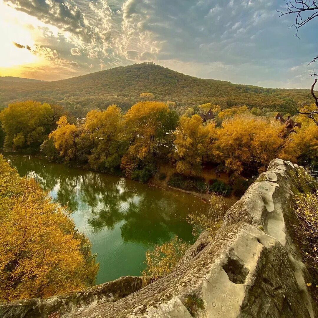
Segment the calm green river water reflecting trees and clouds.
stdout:
<svg viewBox="0 0 318 318">
<path fill-rule="evenodd" d="M 207 204 L 182 192 L 165 191 L 125 178 L 67 168 L 36 157 L 5 154 L 20 176 L 35 178 L 92 243 L 100 270 L 97 284 L 140 275 L 145 251 L 177 235 L 193 242 L 185 218 Z"/>
</svg>

